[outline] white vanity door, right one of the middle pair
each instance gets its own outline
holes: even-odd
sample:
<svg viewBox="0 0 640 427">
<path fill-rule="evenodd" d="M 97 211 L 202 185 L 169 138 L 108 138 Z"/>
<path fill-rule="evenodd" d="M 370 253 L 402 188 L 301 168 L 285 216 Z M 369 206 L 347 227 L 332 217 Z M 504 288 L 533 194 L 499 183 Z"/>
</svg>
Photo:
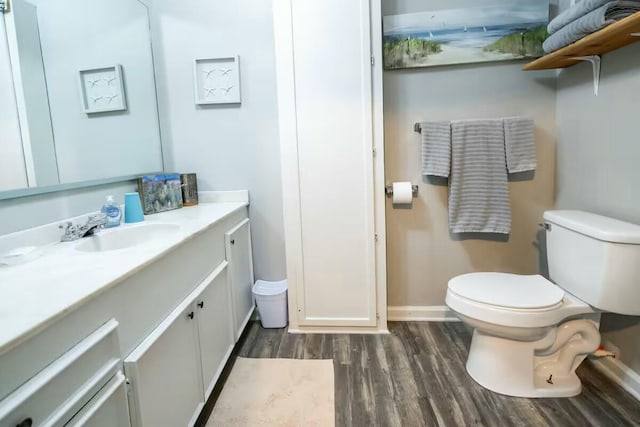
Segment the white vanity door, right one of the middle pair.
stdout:
<svg viewBox="0 0 640 427">
<path fill-rule="evenodd" d="M 233 350 L 233 316 L 230 302 L 231 295 L 225 266 L 210 279 L 202 294 L 196 298 L 205 401 L 209 398 Z"/>
</svg>

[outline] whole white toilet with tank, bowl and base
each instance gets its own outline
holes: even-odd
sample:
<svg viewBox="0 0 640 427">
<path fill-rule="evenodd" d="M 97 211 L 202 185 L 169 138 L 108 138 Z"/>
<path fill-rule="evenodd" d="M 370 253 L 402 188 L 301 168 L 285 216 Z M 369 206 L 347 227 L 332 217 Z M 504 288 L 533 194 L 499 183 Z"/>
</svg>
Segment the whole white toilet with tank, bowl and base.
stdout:
<svg viewBox="0 0 640 427">
<path fill-rule="evenodd" d="M 600 345 L 600 312 L 640 315 L 640 226 L 580 211 L 544 219 L 555 284 L 471 273 L 447 289 L 449 308 L 474 328 L 467 372 L 509 396 L 580 394 L 575 370 Z"/>
</svg>

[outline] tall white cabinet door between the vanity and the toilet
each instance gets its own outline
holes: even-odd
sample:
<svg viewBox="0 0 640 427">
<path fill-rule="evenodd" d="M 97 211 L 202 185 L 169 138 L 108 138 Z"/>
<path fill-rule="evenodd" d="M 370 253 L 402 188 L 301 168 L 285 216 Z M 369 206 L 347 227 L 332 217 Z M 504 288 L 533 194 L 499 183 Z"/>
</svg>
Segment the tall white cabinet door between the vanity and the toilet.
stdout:
<svg viewBox="0 0 640 427">
<path fill-rule="evenodd" d="M 273 5 L 291 323 L 375 326 L 369 0 Z"/>
</svg>

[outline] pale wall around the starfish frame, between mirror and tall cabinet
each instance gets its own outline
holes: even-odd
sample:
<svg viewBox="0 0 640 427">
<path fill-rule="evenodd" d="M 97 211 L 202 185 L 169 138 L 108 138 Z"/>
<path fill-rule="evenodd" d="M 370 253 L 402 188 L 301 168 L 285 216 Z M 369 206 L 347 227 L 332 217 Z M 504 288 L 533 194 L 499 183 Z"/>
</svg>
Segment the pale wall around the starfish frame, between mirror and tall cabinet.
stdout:
<svg viewBox="0 0 640 427">
<path fill-rule="evenodd" d="M 168 170 L 249 189 L 257 279 L 285 277 L 271 1 L 150 1 Z M 196 106 L 193 61 L 240 55 L 241 105 Z"/>
</svg>

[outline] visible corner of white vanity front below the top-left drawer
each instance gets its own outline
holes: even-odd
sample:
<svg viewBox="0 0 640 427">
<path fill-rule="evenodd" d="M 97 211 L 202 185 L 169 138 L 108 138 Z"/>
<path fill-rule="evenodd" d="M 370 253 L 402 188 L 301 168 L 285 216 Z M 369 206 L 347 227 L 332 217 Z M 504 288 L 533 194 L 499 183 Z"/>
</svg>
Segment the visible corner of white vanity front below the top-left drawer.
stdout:
<svg viewBox="0 0 640 427">
<path fill-rule="evenodd" d="M 66 426 L 130 427 L 127 385 L 122 372 L 118 371 Z"/>
</svg>

